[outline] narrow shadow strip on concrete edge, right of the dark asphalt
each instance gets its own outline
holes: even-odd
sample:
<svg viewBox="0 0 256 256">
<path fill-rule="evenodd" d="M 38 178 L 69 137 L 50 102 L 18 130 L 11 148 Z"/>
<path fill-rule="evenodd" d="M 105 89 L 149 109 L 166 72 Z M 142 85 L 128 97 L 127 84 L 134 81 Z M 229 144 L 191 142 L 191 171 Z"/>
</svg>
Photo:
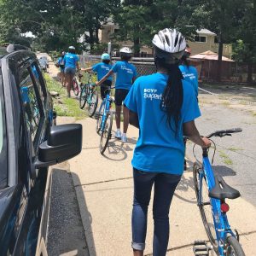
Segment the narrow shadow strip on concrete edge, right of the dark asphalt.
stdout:
<svg viewBox="0 0 256 256">
<path fill-rule="evenodd" d="M 84 227 L 85 240 L 89 250 L 88 254 L 81 254 L 81 255 L 96 256 L 96 247 L 95 247 L 93 232 L 91 228 L 92 217 L 88 210 L 86 200 L 84 198 L 83 185 L 81 184 L 79 176 L 76 173 L 72 172 L 72 176 L 73 176 L 73 180 L 75 180 L 76 182 L 75 190 L 77 194 L 77 200 L 79 201 L 79 208 L 83 209 L 78 211 L 80 212 L 80 214 L 82 214 L 81 218 L 82 218 L 83 227 Z"/>
</svg>

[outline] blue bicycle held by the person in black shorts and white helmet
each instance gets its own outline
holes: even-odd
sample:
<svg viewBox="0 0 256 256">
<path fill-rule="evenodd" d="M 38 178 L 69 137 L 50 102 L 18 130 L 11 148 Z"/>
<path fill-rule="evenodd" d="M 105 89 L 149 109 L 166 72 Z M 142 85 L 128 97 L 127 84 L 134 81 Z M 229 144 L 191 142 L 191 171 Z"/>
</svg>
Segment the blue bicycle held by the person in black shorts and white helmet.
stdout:
<svg viewBox="0 0 256 256">
<path fill-rule="evenodd" d="M 96 132 L 101 135 L 100 138 L 100 152 L 104 154 L 108 147 L 108 141 L 112 137 L 112 125 L 113 125 L 113 112 L 111 111 L 111 104 L 113 98 L 110 96 L 111 89 L 114 87 L 107 88 L 108 93 L 102 101 L 99 112 L 97 113 Z"/>
</svg>

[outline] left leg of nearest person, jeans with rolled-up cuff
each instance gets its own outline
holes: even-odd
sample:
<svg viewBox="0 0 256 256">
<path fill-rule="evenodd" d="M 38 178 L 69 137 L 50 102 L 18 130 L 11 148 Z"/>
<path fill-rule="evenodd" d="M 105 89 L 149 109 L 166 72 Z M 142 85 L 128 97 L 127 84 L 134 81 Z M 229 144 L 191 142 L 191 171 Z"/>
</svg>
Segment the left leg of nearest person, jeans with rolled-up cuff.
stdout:
<svg viewBox="0 0 256 256">
<path fill-rule="evenodd" d="M 155 173 L 133 169 L 134 197 L 131 217 L 134 255 L 143 255 L 147 233 L 148 204 Z"/>
</svg>

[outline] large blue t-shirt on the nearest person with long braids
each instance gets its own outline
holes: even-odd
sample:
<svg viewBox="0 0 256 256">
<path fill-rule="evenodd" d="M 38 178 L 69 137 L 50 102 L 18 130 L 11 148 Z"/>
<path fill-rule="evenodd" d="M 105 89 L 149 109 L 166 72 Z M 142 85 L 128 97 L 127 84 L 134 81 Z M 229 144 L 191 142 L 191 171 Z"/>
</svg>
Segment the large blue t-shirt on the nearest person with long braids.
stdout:
<svg viewBox="0 0 256 256">
<path fill-rule="evenodd" d="M 183 123 L 198 118 L 201 113 L 192 85 L 183 80 L 183 106 L 176 135 L 166 124 L 166 113 L 160 109 L 167 79 L 163 73 L 140 77 L 125 98 L 125 106 L 137 113 L 140 125 L 131 164 L 144 172 L 181 175 L 184 164 Z"/>
</svg>

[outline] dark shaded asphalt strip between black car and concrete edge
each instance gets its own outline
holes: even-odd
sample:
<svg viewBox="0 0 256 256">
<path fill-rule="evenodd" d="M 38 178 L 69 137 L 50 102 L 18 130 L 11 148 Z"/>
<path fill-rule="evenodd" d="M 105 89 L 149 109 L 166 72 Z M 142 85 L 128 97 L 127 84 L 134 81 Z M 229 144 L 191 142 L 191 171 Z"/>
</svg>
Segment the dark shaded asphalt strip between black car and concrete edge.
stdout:
<svg viewBox="0 0 256 256">
<path fill-rule="evenodd" d="M 69 166 L 52 170 L 48 255 L 89 255 Z"/>
</svg>

